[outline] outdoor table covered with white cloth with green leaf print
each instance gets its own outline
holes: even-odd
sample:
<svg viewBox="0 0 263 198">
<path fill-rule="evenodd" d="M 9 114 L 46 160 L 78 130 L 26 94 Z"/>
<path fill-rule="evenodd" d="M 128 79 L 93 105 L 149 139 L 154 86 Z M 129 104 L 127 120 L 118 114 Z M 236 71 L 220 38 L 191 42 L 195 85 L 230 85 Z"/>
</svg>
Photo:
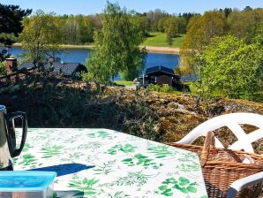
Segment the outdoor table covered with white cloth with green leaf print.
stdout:
<svg viewBox="0 0 263 198">
<path fill-rule="evenodd" d="M 195 153 L 108 129 L 29 128 L 14 170 L 56 171 L 61 197 L 207 198 Z"/>
</svg>

